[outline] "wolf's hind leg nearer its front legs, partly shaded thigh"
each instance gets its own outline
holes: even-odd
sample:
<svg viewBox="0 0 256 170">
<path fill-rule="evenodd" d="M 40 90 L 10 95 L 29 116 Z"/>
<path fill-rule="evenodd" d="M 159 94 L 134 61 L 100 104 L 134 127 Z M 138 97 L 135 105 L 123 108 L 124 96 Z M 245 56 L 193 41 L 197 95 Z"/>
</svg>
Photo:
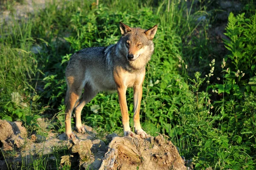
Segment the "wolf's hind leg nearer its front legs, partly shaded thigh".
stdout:
<svg viewBox="0 0 256 170">
<path fill-rule="evenodd" d="M 81 111 L 84 107 L 85 104 L 87 104 L 88 102 L 90 102 L 96 95 L 98 92 L 94 91 L 90 85 L 85 84 L 84 86 L 84 93 L 83 96 L 79 102 L 79 104 L 77 105 L 76 109 L 75 109 L 75 115 L 76 115 L 76 130 L 79 133 L 85 133 L 87 132 L 86 128 L 82 125 L 81 122 Z"/>
</svg>

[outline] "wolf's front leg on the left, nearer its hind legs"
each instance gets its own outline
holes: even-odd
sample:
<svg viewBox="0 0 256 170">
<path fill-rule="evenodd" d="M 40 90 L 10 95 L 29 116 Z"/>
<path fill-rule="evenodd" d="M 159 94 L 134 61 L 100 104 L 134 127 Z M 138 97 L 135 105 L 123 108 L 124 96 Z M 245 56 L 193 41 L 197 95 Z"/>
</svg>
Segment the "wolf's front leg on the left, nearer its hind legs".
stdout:
<svg viewBox="0 0 256 170">
<path fill-rule="evenodd" d="M 134 137 L 135 134 L 131 132 L 131 128 L 129 124 L 129 115 L 128 115 L 128 108 L 126 103 L 126 96 L 125 96 L 127 87 L 117 87 L 116 89 L 118 93 L 119 104 L 120 104 L 120 109 L 122 114 L 122 124 L 124 127 L 124 135 Z"/>
</svg>

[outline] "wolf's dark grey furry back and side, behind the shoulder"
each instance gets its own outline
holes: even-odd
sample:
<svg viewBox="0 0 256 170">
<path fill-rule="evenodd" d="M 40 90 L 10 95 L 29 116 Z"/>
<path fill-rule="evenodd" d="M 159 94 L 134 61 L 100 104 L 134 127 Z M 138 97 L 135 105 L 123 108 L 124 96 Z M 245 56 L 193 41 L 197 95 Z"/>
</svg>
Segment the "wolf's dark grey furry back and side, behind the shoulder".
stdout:
<svg viewBox="0 0 256 170">
<path fill-rule="evenodd" d="M 111 51 L 108 51 L 108 47 L 86 48 L 73 54 L 66 69 L 66 77 L 80 77 L 83 84 L 90 84 L 96 91 L 115 90 L 108 53 Z"/>
</svg>

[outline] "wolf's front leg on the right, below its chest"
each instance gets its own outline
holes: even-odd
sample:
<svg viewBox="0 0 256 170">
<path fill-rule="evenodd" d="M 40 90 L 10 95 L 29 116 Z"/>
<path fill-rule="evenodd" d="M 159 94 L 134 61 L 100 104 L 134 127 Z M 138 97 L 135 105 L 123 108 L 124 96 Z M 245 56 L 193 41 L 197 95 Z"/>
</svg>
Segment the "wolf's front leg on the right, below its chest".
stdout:
<svg viewBox="0 0 256 170">
<path fill-rule="evenodd" d="M 141 138 L 148 138 L 147 133 L 140 126 L 140 102 L 142 98 L 142 84 L 134 86 L 134 129 Z"/>
</svg>

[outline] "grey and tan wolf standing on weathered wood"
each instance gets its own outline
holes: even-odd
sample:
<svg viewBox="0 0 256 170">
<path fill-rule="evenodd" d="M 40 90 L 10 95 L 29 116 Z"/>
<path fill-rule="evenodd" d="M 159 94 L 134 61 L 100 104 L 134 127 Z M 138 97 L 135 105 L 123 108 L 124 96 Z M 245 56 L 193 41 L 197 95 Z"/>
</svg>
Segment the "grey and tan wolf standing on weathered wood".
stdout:
<svg viewBox="0 0 256 170">
<path fill-rule="evenodd" d="M 154 52 L 153 38 L 157 25 L 150 29 L 131 28 L 120 22 L 122 36 L 116 44 L 82 49 L 70 57 L 66 68 L 67 94 L 65 98 L 65 130 L 68 139 L 76 136 L 71 129 L 71 115 L 75 110 L 76 130 L 87 132 L 81 123 L 81 110 L 98 92 L 117 91 L 122 114 L 124 135 L 148 135 L 140 125 L 140 102 L 145 66 Z M 134 90 L 134 130 L 129 125 L 126 90 Z M 84 92 L 82 94 L 82 90 Z"/>
</svg>

